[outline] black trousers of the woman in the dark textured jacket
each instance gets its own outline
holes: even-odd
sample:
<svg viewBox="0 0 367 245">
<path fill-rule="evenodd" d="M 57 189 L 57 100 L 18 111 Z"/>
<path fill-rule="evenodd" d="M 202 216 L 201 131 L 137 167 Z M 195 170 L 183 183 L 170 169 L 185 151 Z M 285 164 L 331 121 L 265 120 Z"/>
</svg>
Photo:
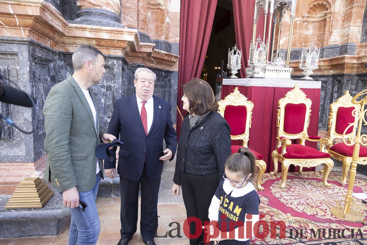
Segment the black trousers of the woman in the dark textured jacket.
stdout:
<svg viewBox="0 0 367 245">
<path fill-rule="evenodd" d="M 218 173 L 195 175 L 181 174 L 182 198 L 185 203 L 187 217 L 198 217 L 201 224 L 209 221 L 209 206 L 219 185 Z M 201 228 L 201 227 L 200 227 Z M 195 234 L 196 225 L 190 224 L 190 234 Z M 190 245 L 198 245 L 204 241 L 204 232 L 199 238 L 190 239 Z"/>
</svg>

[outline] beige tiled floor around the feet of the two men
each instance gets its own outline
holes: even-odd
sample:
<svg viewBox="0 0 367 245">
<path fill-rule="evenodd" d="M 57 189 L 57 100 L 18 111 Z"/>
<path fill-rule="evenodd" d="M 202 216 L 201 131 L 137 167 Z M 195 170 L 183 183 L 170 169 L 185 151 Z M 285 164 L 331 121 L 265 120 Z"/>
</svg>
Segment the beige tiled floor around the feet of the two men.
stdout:
<svg viewBox="0 0 367 245">
<path fill-rule="evenodd" d="M 139 200 L 140 203 L 140 200 Z M 97 245 L 116 245 L 120 239 L 120 198 L 98 198 L 97 199 L 99 219 L 101 220 L 101 234 L 99 235 Z M 157 245 L 189 244 L 188 239 L 183 234 L 182 224 L 186 219 L 185 207 L 182 203 L 162 203 L 158 205 L 159 227 L 155 238 Z M 144 244 L 140 235 L 140 206 L 138 212 L 138 230 L 133 236 L 129 245 Z M 170 230 L 177 228 L 177 223 L 180 224 L 178 235 L 182 238 L 162 238 Z M 37 238 L 17 238 L 0 240 L 0 245 L 66 245 L 68 244 L 70 220 L 65 222 L 62 231 L 57 236 L 37 237 Z M 177 235 L 178 229 L 172 231 L 172 235 Z"/>
</svg>

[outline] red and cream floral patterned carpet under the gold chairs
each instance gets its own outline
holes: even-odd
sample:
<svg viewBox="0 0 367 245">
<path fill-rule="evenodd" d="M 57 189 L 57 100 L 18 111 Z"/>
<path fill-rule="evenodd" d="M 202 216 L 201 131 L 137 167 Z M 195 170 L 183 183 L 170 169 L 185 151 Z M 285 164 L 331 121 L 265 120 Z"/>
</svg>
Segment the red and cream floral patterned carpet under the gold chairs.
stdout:
<svg viewBox="0 0 367 245">
<path fill-rule="evenodd" d="M 364 178 L 366 176 L 357 174 L 354 192 L 367 193 L 367 181 Z M 271 238 L 269 234 L 265 238 L 255 238 L 251 242 L 253 244 L 294 242 L 302 244 L 300 242 L 309 241 L 306 244 L 367 244 L 367 240 L 364 240 L 367 239 L 367 226 L 360 222 L 340 220 L 330 213 L 330 208 L 336 206 L 337 201 L 345 199 L 348 185 L 341 186 L 338 182 L 340 180 L 341 172 L 332 171 L 328 177 L 331 188 L 326 188 L 320 172 L 303 172 L 302 176 L 298 173 L 288 173 L 286 188 L 282 189 L 280 173 L 275 176 L 265 173 L 262 178 L 264 183 L 262 186 L 265 190 L 258 191 L 261 200 L 260 220 L 265 221 L 268 227 L 271 223 L 283 221 L 286 227 L 286 238 L 279 237 L 278 226 L 276 237 Z M 354 203 L 354 209 L 360 212 L 366 211 L 367 205 L 360 200 L 357 199 Z M 344 201 L 341 204 L 344 207 Z M 305 229 L 302 237 L 300 229 Z M 263 231 L 260 227 L 260 234 Z M 316 241 L 319 239 L 318 232 L 320 232 L 320 239 L 332 239 Z M 350 237 L 351 233 L 354 233 L 353 237 Z"/>
</svg>

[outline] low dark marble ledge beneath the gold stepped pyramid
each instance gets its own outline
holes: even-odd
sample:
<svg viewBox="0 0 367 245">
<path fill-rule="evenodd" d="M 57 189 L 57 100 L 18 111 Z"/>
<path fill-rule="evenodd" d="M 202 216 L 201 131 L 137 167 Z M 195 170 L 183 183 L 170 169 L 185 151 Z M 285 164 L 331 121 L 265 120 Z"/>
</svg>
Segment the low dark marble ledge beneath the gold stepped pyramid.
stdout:
<svg viewBox="0 0 367 245">
<path fill-rule="evenodd" d="M 0 196 L 0 238 L 57 235 L 70 212 L 63 206 L 62 195 L 52 190 L 55 194 L 43 208 L 4 209 L 10 195 Z"/>
</svg>

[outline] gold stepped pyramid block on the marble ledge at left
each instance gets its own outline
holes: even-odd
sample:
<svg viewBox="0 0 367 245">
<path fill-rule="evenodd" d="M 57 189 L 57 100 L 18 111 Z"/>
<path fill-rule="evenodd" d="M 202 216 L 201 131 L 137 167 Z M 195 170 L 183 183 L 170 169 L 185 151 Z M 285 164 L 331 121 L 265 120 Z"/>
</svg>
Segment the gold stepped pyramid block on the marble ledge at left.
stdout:
<svg viewBox="0 0 367 245">
<path fill-rule="evenodd" d="M 53 195 L 51 188 L 39 177 L 28 177 L 19 183 L 5 208 L 42 208 Z"/>
</svg>

